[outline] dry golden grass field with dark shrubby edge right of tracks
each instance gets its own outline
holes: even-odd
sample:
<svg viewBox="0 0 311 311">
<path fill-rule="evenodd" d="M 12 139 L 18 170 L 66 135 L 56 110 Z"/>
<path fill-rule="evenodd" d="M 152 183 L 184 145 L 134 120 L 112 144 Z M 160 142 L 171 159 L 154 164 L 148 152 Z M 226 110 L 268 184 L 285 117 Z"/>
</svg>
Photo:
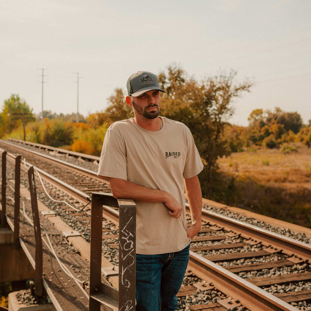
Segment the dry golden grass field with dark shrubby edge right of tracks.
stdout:
<svg viewBox="0 0 311 311">
<path fill-rule="evenodd" d="M 311 227 L 311 148 L 251 149 L 218 159 L 225 204 Z"/>
</svg>

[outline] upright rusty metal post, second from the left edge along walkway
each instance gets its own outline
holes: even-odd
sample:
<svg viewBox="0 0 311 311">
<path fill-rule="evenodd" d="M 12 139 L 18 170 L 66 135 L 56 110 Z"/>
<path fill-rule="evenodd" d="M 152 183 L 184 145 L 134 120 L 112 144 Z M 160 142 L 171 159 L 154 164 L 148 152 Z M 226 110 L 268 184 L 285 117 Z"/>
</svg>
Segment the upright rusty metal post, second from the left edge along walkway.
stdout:
<svg viewBox="0 0 311 311">
<path fill-rule="evenodd" d="M 15 158 L 15 189 L 14 189 L 14 248 L 20 248 L 19 244 L 19 208 L 20 208 L 20 186 L 21 186 L 21 156 Z"/>
</svg>

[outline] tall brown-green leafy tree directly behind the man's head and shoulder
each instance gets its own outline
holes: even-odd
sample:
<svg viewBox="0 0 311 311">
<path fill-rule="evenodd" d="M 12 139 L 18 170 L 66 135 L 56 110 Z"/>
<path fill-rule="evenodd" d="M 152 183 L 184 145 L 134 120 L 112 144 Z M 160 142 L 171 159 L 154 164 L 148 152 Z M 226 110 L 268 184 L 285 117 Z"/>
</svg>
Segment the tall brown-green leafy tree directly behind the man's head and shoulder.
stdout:
<svg viewBox="0 0 311 311">
<path fill-rule="evenodd" d="M 161 114 L 190 128 L 204 164 L 201 179 L 208 184 L 217 168 L 217 158 L 228 154 L 223 131 L 234 112 L 232 100 L 253 85 L 250 81 L 234 84 L 235 76 L 234 71 L 220 72 L 198 82 L 187 78 L 179 67 L 169 67 L 159 75 L 160 87 L 166 92 L 161 99 Z"/>
</svg>

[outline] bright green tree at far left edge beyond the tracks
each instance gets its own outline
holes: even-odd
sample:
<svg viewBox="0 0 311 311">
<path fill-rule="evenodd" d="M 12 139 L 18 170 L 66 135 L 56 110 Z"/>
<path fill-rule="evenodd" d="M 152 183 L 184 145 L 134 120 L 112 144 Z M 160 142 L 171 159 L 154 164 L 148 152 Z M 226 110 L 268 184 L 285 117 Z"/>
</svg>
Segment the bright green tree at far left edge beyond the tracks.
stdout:
<svg viewBox="0 0 311 311">
<path fill-rule="evenodd" d="M 2 112 L 0 113 L 0 137 L 4 134 L 11 133 L 13 129 L 18 128 L 22 124 L 20 115 L 25 114 L 25 123 L 35 120 L 32 109 L 22 100 L 19 95 L 12 94 L 11 97 L 4 101 Z"/>
</svg>

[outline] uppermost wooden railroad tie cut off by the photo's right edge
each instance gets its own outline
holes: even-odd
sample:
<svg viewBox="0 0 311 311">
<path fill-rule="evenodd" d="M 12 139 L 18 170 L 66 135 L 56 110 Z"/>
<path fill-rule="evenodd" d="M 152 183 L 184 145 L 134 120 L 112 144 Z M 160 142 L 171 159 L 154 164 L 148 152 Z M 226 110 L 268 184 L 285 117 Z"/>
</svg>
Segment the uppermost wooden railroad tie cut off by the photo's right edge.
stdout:
<svg viewBox="0 0 311 311">
<path fill-rule="evenodd" d="M 267 276 L 267 277 L 256 277 L 253 279 L 248 279 L 256 286 L 266 286 L 274 284 L 285 284 L 290 282 L 306 281 L 311 279 L 311 272 L 305 273 L 295 273 L 295 274 L 285 274 L 282 276 Z"/>
</svg>

